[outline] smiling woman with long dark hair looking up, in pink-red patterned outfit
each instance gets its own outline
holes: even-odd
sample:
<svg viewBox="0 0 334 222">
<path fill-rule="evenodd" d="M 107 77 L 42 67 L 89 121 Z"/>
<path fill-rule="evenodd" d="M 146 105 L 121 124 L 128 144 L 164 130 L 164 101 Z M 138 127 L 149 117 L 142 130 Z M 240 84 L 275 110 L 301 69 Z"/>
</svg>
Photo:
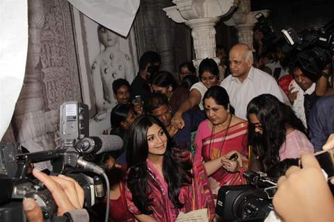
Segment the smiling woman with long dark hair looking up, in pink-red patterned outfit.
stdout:
<svg viewBox="0 0 334 222">
<path fill-rule="evenodd" d="M 214 200 L 201 162 L 173 147 L 166 128 L 151 116 L 138 117 L 127 148 L 127 205 L 138 221 L 175 221 L 180 212 L 208 209 Z"/>
</svg>

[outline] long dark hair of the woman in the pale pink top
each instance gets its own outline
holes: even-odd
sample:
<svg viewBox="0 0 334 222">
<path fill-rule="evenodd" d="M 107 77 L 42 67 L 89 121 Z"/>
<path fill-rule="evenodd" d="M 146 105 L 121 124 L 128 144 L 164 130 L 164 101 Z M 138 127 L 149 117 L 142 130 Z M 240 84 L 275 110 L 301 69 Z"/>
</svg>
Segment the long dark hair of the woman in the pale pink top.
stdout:
<svg viewBox="0 0 334 222">
<path fill-rule="evenodd" d="M 255 114 L 262 124 L 262 135 L 255 133 L 250 114 Z M 248 103 L 247 119 L 248 144 L 253 146 L 264 171 L 280 162 L 279 151 L 285 142 L 287 127 L 306 133 L 303 122 L 296 117 L 292 108 L 271 94 L 262 94 Z"/>
</svg>

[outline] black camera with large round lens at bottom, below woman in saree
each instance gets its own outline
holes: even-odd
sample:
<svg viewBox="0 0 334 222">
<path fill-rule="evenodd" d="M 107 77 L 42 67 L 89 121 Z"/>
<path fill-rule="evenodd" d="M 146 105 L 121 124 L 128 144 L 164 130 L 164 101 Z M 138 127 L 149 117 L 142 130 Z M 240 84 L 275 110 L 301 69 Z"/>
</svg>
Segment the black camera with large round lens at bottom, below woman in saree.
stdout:
<svg viewBox="0 0 334 222">
<path fill-rule="evenodd" d="M 244 178 L 249 185 L 219 189 L 216 214 L 222 221 L 264 221 L 273 210 L 271 198 L 276 192 L 276 182 L 262 172 L 246 171 Z"/>
</svg>

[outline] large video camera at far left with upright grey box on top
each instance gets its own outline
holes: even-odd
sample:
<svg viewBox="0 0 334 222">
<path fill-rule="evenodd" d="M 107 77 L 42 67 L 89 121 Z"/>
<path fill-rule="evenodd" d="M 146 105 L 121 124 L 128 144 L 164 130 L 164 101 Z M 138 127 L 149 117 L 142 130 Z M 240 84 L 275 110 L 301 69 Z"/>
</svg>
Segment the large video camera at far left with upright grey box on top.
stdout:
<svg viewBox="0 0 334 222">
<path fill-rule="evenodd" d="M 40 205 L 45 221 L 55 219 L 57 205 L 51 193 L 26 173 L 31 163 L 51 160 L 54 174 L 63 173 L 74 178 L 84 189 L 84 207 L 91 207 L 104 197 L 101 178 L 93 173 L 82 173 L 87 170 L 78 168 L 89 164 L 86 160 L 102 146 L 98 137 L 87 137 L 88 106 L 78 102 L 63 103 L 60 119 L 63 146 L 55 150 L 22 154 L 18 145 L 0 146 L 0 221 L 25 221 L 24 198 L 33 198 Z"/>
</svg>

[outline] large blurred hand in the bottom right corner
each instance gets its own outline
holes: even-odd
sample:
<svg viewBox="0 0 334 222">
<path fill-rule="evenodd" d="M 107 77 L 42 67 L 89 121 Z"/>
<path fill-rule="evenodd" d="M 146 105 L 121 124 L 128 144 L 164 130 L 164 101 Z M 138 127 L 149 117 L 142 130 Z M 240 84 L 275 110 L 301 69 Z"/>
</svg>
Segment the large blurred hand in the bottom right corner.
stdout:
<svg viewBox="0 0 334 222">
<path fill-rule="evenodd" d="M 311 153 L 301 154 L 303 169 L 293 166 L 278 180 L 273 206 L 283 221 L 334 221 L 334 198 Z"/>
</svg>

